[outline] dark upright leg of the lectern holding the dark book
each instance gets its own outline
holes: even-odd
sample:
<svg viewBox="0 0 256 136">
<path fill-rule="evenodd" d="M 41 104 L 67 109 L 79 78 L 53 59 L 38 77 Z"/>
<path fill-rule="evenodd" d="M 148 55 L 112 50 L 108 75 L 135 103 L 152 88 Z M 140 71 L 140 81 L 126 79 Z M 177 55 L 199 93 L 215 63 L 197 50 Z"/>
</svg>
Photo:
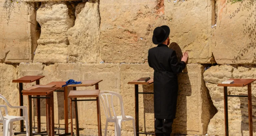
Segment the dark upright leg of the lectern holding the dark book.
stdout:
<svg viewBox="0 0 256 136">
<path fill-rule="evenodd" d="M 136 135 L 139 136 L 139 85 L 135 85 L 135 127 Z"/>
</svg>

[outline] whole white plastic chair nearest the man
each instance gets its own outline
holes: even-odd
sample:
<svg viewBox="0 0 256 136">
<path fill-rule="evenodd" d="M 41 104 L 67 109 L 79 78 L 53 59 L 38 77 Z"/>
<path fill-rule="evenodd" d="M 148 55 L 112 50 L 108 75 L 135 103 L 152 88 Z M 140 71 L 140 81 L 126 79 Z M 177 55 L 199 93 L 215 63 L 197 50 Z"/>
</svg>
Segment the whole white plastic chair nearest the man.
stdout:
<svg viewBox="0 0 256 136">
<path fill-rule="evenodd" d="M 134 136 L 136 136 L 134 118 L 132 116 L 125 116 L 125 114 L 124 114 L 124 105 L 123 105 L 122 96 L 116 92 L 110 92 L 110 91 L 101 91 L 99 95 L 101 96 L 100 98 L 101 98 L 104 112 L 105 112 L 105 115 L 107 118 L 106 119 L 106 127 L 105 127 L 105 136 L 107 135 L 108 122 L 115 123 L 115 136 L 121 136 L 121 122 L 130 121 L 130 120 L 132 120 L 132 123 L 133 123 Z M 112 106 L 114 116 L 111 115 L 110 105 L 109 105 L 109 101 L 108 101 L 108 95 L 111 95 L 111 106 Z M 116 112 L 115 112 L 114 104 L 113 104 L 113 96 L 114 95 L 117 96 L 120 100 L 121 116 L 116 116 Z"/>
</svg>

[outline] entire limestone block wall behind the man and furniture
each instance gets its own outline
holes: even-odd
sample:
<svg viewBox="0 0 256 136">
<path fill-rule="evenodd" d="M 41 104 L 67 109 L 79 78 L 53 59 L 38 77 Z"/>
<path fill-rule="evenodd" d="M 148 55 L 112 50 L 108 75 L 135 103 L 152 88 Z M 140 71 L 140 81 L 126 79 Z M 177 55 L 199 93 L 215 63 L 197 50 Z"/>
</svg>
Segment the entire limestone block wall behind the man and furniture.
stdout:
<svg viewBox="0 0 256 136">
<path fill-rule="evenodd" d="M 255 3 L 255 0 L 0 0 L 0 93 L 11 104 L 18 105 L 13 99 L 18 97 L 18 85 L 11 80 L 25 75 L 44 75 L 41 84 L 103 79 L 100 89 L 120 93 L 125 113 L 135 117 L 134 86 L 127 82 L 153 77 L 153 69 L 147 64 L 148 49 L 155 47 L 151 40 L 153 30 L 168 25 L 172 42 L 169 48 L 177 52 L 179 60 L 182 52 L 189 53 L 188 65 L 179 74 L 173 133 L 222 136 L 223 90 L 217 83 L 228 78 L 254 78 Z M 219 65 L 204 72 L 205 66 L 212 63 Z M 31 85 L 24 84 L 24 88 Z M 139 86 L 139 91 L 152 92 L 153 86 Z M 246 88 L 230 88 L 230 91 L 246 93 Z M 63 95 L 58 92 L 54 97 L 55 127 L 63 127 Z M 139 130 L 153 132 L 153 96 L 139 97 Z M 27 106 L 26 97 L 24 103 Z M 230 98 L 229 103 L 230 134 L 248 135 L 246 100 Z M 45 102 L 41 105 L 45 127 Z M 115 99 L 118 113 L 119 106 Z M 35 111 L 34 104 L 33 119 L 37 122 Z M 10 113 L 18 115 L 17 110 Z M 104 128 L 103 110 L 101 116 Z M 79 122 L 83 128 L 81 134 L 97 135 L 93 102 L 79 103 L 79 118 L 84 117 Z M 18 125 L 16 122 L 15 130 Z M 114 135 L 113 123 L 108 129 L 108 134 Z M 131 122 L 122 124 L 123 135 L 133 135 L 132 131 Z"/>
</svg>

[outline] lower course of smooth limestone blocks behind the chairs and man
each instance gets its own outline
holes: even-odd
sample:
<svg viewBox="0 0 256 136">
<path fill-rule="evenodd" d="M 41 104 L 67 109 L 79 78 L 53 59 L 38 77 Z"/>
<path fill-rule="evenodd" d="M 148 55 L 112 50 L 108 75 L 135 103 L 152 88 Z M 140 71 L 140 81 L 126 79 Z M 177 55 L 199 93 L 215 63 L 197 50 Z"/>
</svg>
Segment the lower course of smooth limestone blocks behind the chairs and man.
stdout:
<svg viewBox="0 0 256 136">
<path fill-rule="evenodd" d="M 11 70 L 5 72 L 6 70 Z M 177 118 L 174 121 L 174 133 L 181 134 L 206 134 L 208 122 L 214 115 L 212 102 L 209 101 L 209 93 L 203 81 L 203 66 L 199 64 L 188 64 L 187 72 L 179 75 L 179 97 L 177 105 Z M 63 64 L 55 63 L 45 65 L 42 63 L 20 63 L 17 68 L 12 65 L 1 64 L 1 72 L 8 73 L 1 78 L 3 89 L 1 90 L 4 96 L 11 104 L 18 105 L 18 101 L 13 101 L 12 98 L 18 97 L 17 83 L 11 83 L 12 79 L 23 77 L 25 75 L 44 75 L 40 80 L 40 84 L 47 84 L 52 81 L 66 81 L 68 79 L 75 80 L 94 80 L 102 79 L 99 83 L 99 88 L 104 91 L 114 91 L 122 95 L 124 100 L 125 114 L 135 117 L 134 105 L 134 86 L 128 85 L 129 81 L 144 76 L 153 76 L 153 70 L 148 64 Z M 8 77 L 7 77 L 8 76 Z M 35 84 L 35 83 L 32 83 Z M 24 89 L 32 84 L 24 83 Z M 94 87 L 78 87 L 77 90 L 93 89 Z M 153 92 L 153 85 L 140 86 L 140 92 Z M 13 93 L 16 92 L 16 93 Z M 12 95 L 8 95 L 12 93 Z M 24 103 L 27 106 L 27 97 L 24 98 Z M 144 94 L 139 96 L 139 130 L 153 132 L 154 131 L 154 109 L 153 96 Z M 55 127 L 64 127 L 63 92 L 54 92 L 54 114 Z M 115 109 L 120 114 L 120 103 L 118 99 L 114 99 Z M 87 131 L 93 132 L 97 129 L 97 112 L 95 102 L 79 102 L 79 127 L 86 128 L 81 131 L 81 134 L 87 134 Z M 37 122 L 36 103 L 33 103 L 33 122 Z M 86 105 L 86 106 L 85 106 Z M 105 128 L 105 113 L 101 105 L 101 122 L 102 128 Z M 13 115 L 18 115 L 18 111 L 10 112 Z M 45 101 L 41 101 L 41 123 L 46 126 Z M 74 119 L 73 119 L 74 121 Z M 69 120 L 70 122 L 70 120 Z M 16 123 L 15 125 L 19 125 Z M 75 126 L 74 126 L 75 127 Z M 16 127 L 18 130 L 19 127 Z M 89 129 L 89 130 L 88 130 Z M 114 124 L 109 123 L 109 134 L 113 135 Z M 122 133 L 132 135 L 132 122 L 122 123 Z M 96 131 L 97 132 L 97 131 Z"/>
</svg>

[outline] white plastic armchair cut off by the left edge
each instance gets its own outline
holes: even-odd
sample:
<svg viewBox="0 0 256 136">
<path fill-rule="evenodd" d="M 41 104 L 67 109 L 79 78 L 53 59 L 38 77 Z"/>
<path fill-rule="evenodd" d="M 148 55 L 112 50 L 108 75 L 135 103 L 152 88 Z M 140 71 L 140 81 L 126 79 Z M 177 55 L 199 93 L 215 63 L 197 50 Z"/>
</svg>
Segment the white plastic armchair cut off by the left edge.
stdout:
<svg viewBox="0 0 256 136">
<path fill-rule="evenodd" d="M 23 117 L 21 116 L 10 116 L 8 115 L 8 110 L 6 105 L 0 105 L 0 108 L 5 109 L 5 115 L 3 116 L 2 111 L 0 110 L 0 122 L 3 123 L 3 136 L 12 136 L 12 126 L 14 121 L 25 121 L 26 126 L 26 136 L 28 136 L 28 112 L 26 106 L 12 106 L 3 95 L 0 94 L 0 98 L 2 98 L 8 107 L 15 108 L 15 109 L 22 109 L 23 110 Z"/>
</svg>

